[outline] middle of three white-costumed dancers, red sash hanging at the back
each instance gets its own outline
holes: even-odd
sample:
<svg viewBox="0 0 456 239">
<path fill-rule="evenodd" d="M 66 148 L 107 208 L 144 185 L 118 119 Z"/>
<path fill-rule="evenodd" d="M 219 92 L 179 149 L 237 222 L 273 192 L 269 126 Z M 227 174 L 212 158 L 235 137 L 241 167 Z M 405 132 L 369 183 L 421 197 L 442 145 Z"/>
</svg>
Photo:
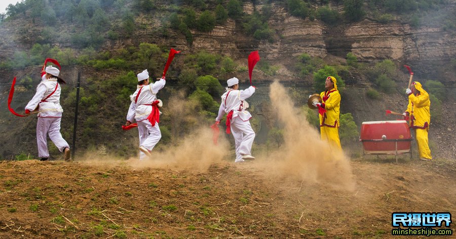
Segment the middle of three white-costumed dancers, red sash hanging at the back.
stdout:
<svg viewBox="0 0 456 239">
<path fill-rule="evenodd" d="M 144 160 L 150 157 L 150 151 L 162 138 L 160 127 L 160 111 L 161 101 L 157 99 L 157 93 L 165 86 L 165 77 L 154 84 L 149 84 L 149 73 L 147 70 L 142 71 L 138 75 L 138 86 L 130 96 L 131 104 L 127 113 L 127 123 L 129 126 L 133 121 L 138 124 L 139 131 L 139 160 Z"/>
</svg>

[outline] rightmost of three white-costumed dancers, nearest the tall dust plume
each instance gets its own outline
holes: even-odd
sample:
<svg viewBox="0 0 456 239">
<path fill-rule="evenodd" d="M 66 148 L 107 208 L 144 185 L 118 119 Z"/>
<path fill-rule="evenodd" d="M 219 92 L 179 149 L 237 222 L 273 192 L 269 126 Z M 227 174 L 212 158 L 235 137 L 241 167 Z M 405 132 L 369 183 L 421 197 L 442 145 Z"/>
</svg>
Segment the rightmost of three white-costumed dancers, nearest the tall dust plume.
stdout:
<svg viewBox="0 0 456 239">
<path fill-rule="evenodd" d="M 251 155 L 255 132 L 252 130 L 249 119 L 252 115 L 245 110 L 248 107 L 245 99 L 255 93 L 255 87 L 250 86 L 246 90 L 239 89 L 239 79 L 233 77 L 227 81 L 228 88 L 221 96 L 221 104 L 218 109 L 218 116 L 215 118 L 215 124 L 220 124 L 220 119 L 225 113 L 226 116 L 226 133 L 230 130 L 235 138 L 236 160 L 235 163 L 244 162 L 244 160 L 254 160 Z"/>
</svg>

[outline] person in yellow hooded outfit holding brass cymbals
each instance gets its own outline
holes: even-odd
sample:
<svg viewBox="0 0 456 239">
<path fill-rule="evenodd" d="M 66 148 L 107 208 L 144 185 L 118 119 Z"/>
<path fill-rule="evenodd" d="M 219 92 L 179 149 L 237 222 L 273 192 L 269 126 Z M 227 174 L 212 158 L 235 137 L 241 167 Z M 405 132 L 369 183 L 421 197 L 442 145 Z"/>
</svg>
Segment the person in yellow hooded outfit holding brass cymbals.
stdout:
<svg viewBox="0 0 456 239">
<path fill-rule="evenodd" d="M 321 139 L 329 141 L 332 147 L 342 150 L 339 139 L 340 94 L 336 82 L 333 76 L 326 78 L 326 90 L 320 94 L 322 103 L 316 103 L 314 106 L 321 106 L 326 110 L 323 115 L 319 114 Z"/>
</svg>

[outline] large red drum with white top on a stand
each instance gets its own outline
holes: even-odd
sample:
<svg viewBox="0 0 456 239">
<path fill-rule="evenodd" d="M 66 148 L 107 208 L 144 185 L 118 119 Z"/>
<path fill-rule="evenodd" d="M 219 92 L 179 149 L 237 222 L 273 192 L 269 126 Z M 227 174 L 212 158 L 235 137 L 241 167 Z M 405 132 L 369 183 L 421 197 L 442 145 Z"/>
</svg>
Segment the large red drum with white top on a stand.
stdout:
<svg viewBox="0 0 456 239">
<path fill-rule="evenodd" d="M 364 154 L 411 153 L 412 140 L 406 121 L 363 122 L 359 138 Z"/>
</svg>

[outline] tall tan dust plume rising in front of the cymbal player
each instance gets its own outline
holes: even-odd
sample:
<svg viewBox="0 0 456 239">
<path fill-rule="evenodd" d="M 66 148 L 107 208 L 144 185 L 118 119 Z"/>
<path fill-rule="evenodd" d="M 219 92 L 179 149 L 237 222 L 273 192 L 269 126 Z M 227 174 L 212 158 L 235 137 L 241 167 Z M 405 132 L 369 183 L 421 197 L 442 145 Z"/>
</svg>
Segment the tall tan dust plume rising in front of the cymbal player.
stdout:
<svg viewBox="0 0 456 239">
<path fill-rule="evenodd" d="M 285 88 L 277 81 L 271 85 L 272 107 L 284 126 L 284 144 L 258 158 L 256 167 L 278 179 L 295 179 L 328 184 L 334 189 L 354 190 L 350 161 L 343 152 L 334 150 L 320 139 L 320 133 L 309 125 L 306 115 L 293 106 Z M 273 169 L 273 170 L 271 170 Z"/>
</svg>

